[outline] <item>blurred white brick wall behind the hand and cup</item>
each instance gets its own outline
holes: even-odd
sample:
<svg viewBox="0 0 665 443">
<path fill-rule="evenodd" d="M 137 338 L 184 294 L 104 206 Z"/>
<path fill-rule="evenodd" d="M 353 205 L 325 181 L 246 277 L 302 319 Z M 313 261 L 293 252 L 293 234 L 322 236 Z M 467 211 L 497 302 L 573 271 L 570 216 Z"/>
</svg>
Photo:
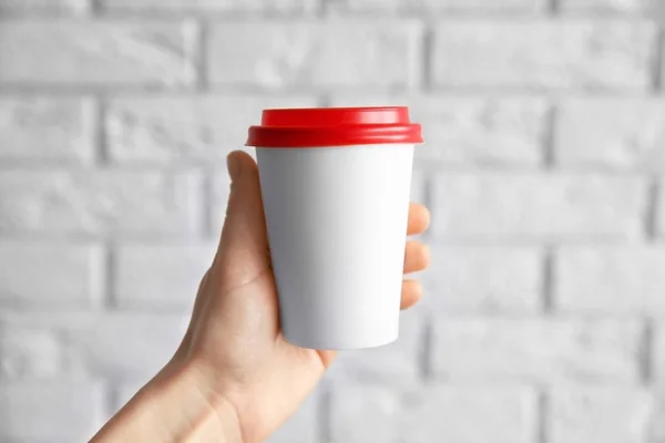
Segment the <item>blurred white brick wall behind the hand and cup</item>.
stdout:
<svg viewBox="0 0 665 443">
<path fill-rule="evenodd" d="M 172 356 L 260 110 L 408 104 L 421 306 L 270 442 L 665 442 L 662 0 L 0 0 L 0 442 Z"/>
</svg>

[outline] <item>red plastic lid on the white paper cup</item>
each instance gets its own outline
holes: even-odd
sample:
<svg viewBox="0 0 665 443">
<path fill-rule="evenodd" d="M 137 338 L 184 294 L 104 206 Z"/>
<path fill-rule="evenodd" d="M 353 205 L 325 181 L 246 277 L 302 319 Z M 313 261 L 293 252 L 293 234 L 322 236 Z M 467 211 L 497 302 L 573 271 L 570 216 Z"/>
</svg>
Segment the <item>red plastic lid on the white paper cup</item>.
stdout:
<svg viewBox="0 0 665 443">
<path fill-rule="evenodd" d="M 321 147 L 422 143 L 420 125 L 406 106 L 265 110 L 249 127 L 247 146 Z"/>
</svg>

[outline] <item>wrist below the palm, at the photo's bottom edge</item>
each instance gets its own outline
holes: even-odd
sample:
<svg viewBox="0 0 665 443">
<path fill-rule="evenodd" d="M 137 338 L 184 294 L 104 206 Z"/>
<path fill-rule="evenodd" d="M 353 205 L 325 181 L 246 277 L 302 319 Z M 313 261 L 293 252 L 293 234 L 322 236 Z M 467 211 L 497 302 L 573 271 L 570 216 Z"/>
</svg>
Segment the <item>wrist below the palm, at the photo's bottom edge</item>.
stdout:
<svg viewBox="0 0 665 443">
<path fill-rule="evenodd" d="M 193 363 L 170 363 L 92 440 L 243 443 L 232 402 Z"/>
</svg>

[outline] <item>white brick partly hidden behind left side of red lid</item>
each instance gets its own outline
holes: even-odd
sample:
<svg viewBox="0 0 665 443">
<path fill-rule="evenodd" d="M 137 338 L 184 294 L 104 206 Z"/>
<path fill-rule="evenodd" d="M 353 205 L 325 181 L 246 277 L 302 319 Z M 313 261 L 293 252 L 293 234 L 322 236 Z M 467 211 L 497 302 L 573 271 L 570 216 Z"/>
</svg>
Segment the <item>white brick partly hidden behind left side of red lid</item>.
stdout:
<svg viewBox="0 0 665 443">
<path fill-rule="evenodd" d="M 315 96 L 122 96 L 106 109 L 104 128 L 114 163 L 224 164 L 244 144 L 264 107 L 315 106 Z"/>
</svg>

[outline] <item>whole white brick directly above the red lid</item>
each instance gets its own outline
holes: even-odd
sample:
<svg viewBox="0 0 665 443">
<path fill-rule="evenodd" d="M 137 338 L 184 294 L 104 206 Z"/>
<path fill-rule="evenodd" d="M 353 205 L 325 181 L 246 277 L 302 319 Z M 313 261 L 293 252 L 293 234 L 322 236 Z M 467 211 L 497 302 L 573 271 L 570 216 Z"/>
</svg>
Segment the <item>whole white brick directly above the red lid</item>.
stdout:
<svg viewBox="0 0 665 443">
<path fill-rule="evenodd" d="M 421 30 L 410 21 L 217 24 L 208 76 L 214 84 L 269 90 L 408 87 L 419 80 Z"/>
</svg>

